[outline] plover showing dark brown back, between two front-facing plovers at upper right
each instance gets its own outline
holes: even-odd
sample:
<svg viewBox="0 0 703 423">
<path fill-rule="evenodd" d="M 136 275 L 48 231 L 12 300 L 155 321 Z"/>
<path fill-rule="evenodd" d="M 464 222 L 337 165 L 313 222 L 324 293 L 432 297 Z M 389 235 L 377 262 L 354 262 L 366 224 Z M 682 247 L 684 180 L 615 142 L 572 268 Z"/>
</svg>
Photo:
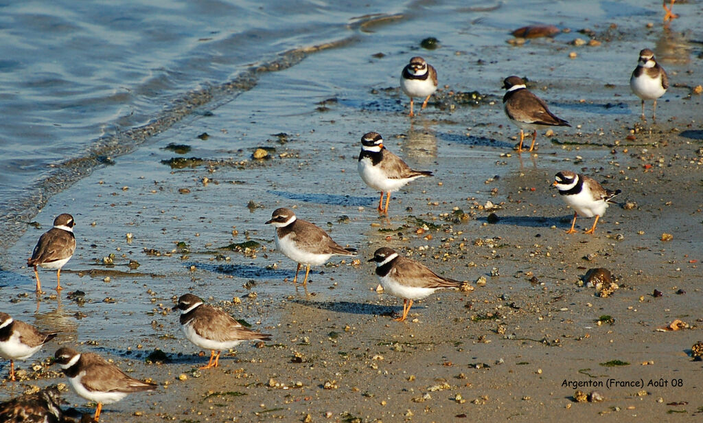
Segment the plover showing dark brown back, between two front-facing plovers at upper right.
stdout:
<svg viewBox="0 0 703 423">
<path fill-rule="evenodd" d="M 522 152 L 524 130 L 532 131 L 532 143 L 529 151 L 534 149 L 537 139 L 537 129 L 549 126 L 571 126 L 569 122 L 555 116 L 549 111 L 547 103 L 531 93 L 520 77 L 507 77 L 503 80 L 503 88 L 508 90 L 503 96 L 503 110 L 510 122 L 520 128 L 520 144 L 517 152 Z"/>
</svg>

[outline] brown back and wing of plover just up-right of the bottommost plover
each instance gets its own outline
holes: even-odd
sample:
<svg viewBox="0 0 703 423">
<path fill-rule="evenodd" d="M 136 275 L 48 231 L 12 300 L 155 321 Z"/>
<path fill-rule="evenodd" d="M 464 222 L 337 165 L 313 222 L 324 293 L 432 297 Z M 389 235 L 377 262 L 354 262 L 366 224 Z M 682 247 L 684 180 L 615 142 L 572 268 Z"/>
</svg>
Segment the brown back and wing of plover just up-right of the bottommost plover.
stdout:
<svg viewBox="0 0 703 423">
<path fill-rule="evenodd" d="M 193 323 L 193 329 L 205 339 L 219 342 L 247 341 L 250 339 L 271 340 L 271 334 L 262 334 L 261 332 L 250 330 L 231 315 L 219 310 L 219 308 L 202 304 L 198 312 L 202 313 L 202 315 Z"/>
</svg>

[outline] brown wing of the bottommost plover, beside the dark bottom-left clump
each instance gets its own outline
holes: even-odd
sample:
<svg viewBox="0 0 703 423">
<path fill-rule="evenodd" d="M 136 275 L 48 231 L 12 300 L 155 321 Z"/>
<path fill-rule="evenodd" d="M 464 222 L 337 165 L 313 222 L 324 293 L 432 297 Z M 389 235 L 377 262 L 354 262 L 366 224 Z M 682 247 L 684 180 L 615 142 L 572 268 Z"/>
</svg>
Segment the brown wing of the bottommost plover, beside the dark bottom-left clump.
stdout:
<svg viewBox="0 0 703 423">
<path fill-rule="evenodd" d="M 89 391 L 129 393 L 156 389 L 156 384 L 127 376 L 120 367 L 108 363 L 97 354 L 81 353 L 81 361 L 86 372 L 81 377 L 81 384 Z"/>
</svg>

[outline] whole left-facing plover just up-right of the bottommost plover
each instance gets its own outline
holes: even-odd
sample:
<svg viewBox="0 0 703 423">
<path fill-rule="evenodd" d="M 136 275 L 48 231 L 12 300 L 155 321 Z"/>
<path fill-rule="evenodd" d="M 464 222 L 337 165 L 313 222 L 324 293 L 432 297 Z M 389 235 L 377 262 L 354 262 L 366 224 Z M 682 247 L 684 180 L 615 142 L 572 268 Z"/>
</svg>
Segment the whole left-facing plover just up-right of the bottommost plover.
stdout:
<svg viewBox="0 0 703 423">
<path fill-rule="evenodd" d="M 181 311 L 181 329 L 188 341 L 210 350 L 209 362 L 200 369 L 218 367 L 222 350 L 234 348 L 244 341 L 271 341 L 270 334 L 247 329 L 231 315 L 204 304 L 193 294 L 181 295 L 172 310 Z"/>
</svg>

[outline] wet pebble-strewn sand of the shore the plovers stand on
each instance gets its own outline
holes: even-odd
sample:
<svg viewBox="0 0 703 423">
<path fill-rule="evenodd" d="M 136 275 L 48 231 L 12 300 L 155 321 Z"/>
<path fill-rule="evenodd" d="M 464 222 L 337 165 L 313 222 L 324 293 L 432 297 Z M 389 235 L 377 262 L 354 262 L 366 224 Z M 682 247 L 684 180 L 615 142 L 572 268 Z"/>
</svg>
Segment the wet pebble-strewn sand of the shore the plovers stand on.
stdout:
<svg viewBox="0 0 703 423">
<path fill-rule="evenodd" d="M 377 28 L 364 41 L 271 74 L 235 101 L 202 110 L 139 154 L 118 157 L 52 197 L 36 219 L 43 228 L 29 230 L 6 252 L 6 261 L 18 257 L 11 259 L 17 273 L 5 275 L 11 283 L 1 288 L 8 313 L 63 331 L 34 362 L 59 345 L 78 344 L 160 384 L 155 393 L 106 406 L 103 422 L 699 419 L 703 365 L 689 354 L 703 340 L 697 332 L 703 135 L 701 96 L 690 96 L 687 87 L 702 81 L 693 72 L 701 65 L 700 46 L 685 41 L 699 34 L 682 38 L 626 20 L 599 32 L 603 44 L 591 50 L 557 37 L 517 48 L 494 42 L 469 55 L 456 42 L 423 52 L 448 88 L 437 96 L 439 105 L 408 119 L 397 76 L 417 52 L 391 42 L 383 45 L 385 57 L 372 55 L 384 30 L 397 34 L 412 24 Z M 627 85 L 639 40 L 652 32 L 661 32 L 662 51 L 688 58 L 663 62 L 676 84 L 659 103 L 654 125 L 640 122 L 639 100 Z M 569 59 L 569 51 L 578 58 Z M 624 59 L 613 61 L 612 70 L 586 77 L 593 60 L 619 56 Z M 543 57 L 553 67 L 538 73 L 533 59 Z M 349 69 L 360 70 L 361 81 L 340 78 Z M 325 71 L 309 82 L 306 76 L 318 70 Z M 533 91 L 574 126 L 540 134 L 536 155 L 512 151 L 517 131 L 503 115 L 499 87 L 513 73 L 538 75 Z M 449 91 L 473 90 L 488 99 L 439 107 L 451 103 Z M 378 193 L 356 174 L 359 139 L 371 130 L 413 167 L 436 174 L 396 193 L 388 216 L 378 215 Z M 209 138 L 197 138 L 203 133 Z M 165 149 L 169 143 L 191 150 L 179 155 Z M 275 148 L 271 159 L 252 160 L 257 147 Z M 162 164 L 173 157 L 206 162 L 183 169 Z M 593 236 L 565 234 L 572 211 L 550 189 L 562 169 L 623 190 L 619 202 L 635 207 L 611 206 Z M 488 201 L 498 208 L 486 210 Z M 314 269 L 307 292 L 295 289 L 295 264 L 275 251 L 273 229 L 264 225 L 284 206 L 357 247 L 359 261 L 333 259 Z M 62 272 L 60 299 L 47 290 L 34 313 L 32 272 L 20 266 L 63 211 L 78 223 L 77 254 Z M 487 222 L 491 212 L 497 223 Z M 577 228 L 591 223 L 579 219 Z M 423 225 L 427 230 L 418 230 Z M 662 241 L 662 233 L 673 239 Z M 261 246 L 244 253 L 219 249 L 247 240 Z M 396 323 L 391 314 L 402 301 L 375 292 L 378 280 L 366 263 L 382 245 L 467 280 L 473 290 L 438 292 L 413 306 L 411 320 Z M 109 254 L 114 266 L 104 264 Z M 138 268 L 130 270 L 129 260 Z M 581 282 L 598 267 L 617 278 L 619 289 L 610 297 Z M 41 276 L 45 289 L 53 286 L 53 272 Z M 485 284 L 477 282 L 482 277 Z M 86 302 L 67 297 L 78 289 Z M 654 289 L 663 296 L 652 296 Z M 218 369 L 194 370 L 207 357 L 183 338 L 170 311 L 185 292 L 223 306 L 273 334 L 273 341 L 240 346 Z M 598 325 L 604 315 L 614 323 Z M 677 318 L 690 328 L 658 330 Z M 167 353 L 169 363 L 145 364 L 154 349 Z M 612 360 L 628 364 L 603 365 Z M 3 362 L 3 375 L 7 370 Z M 3 382 L 0 398 L 28 385 L 65 382 L 54 376 Z M 576 389 L 569 384 L 611 379 L 645 386 L 581 387 L 605 401 L 573 401 Z M 667 386 L 647 386 L 659 379 Z M 679 381 L 683 386 L 673 386 Z M 65 398 L 89 411 L 75 393 Z"/>
</svg>

